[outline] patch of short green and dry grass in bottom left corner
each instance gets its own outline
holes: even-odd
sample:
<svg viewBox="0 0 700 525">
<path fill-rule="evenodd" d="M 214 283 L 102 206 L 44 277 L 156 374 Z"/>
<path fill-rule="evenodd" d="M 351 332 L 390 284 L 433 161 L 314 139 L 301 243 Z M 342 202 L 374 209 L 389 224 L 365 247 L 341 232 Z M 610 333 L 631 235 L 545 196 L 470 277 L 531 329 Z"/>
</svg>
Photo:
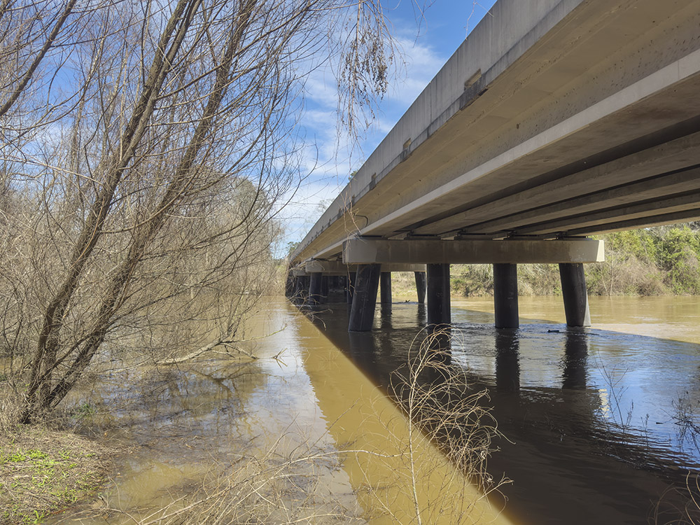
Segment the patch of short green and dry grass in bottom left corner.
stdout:
<svg viewBox="0 0 700 525">
<path fill-rule="evenodd" d="M 0 524 L 38 524 L 92 495 L 106 472 L 105 449 L 44 426 L 0 435 Z"/>
</svg>

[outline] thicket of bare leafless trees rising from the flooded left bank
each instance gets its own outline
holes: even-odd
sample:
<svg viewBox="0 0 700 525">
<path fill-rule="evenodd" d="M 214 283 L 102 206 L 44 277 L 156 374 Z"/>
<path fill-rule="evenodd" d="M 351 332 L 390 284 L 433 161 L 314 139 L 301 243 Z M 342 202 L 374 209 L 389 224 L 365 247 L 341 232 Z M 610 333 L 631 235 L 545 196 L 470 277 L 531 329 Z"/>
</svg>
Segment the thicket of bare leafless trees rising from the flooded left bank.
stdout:
<svg viewBox="0 0 700 525">
<path fill-rule="evenodd" d="M 272 273 L 304 78 L 340 64 L 354 129 L 391 43 L 363 1 L 4 0 L 0 23 L 1 344 L 29 421 L 96 357 L 235 340 Z"/>
</svg>

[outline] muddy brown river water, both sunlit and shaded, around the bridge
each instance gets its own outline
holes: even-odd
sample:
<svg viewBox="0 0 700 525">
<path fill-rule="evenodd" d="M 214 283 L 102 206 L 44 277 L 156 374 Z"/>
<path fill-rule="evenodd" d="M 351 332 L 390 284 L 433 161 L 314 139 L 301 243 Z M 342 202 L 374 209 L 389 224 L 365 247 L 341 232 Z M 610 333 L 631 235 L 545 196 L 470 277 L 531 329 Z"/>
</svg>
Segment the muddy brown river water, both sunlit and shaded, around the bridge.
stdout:
<svg viewBox="0 0 700 525">
<path fill-rule="evenodd" d="M 451 366 L 489 389 L 505 436 L 489 472 L 512 479 L 469 518 L 462 512 L 475 489 L 425 442 L 414 454 L 422 472 L 414 491 L 405 418 L 385 395 L 425 322 L 415 302 L 377 307 L 370 334 L 349 334 L 342 302 L 303 316 L 274 298 L 253 330 L 274 333 L 248 345 L 260 356 L 252 363 L 113 372 L 75 399 L 102 408 L 107 437 L 132 450 L 102 498 L 147 515 L 213 463 L 265 454 L 283 435 L 283 449 L 337 452 L 314 472 L 348 520 L 411 522 L 415 494 L 423 523 L 676 523 L 689 501 L 686 477 L 700 472 L 700 297 L 593 297 L 590 307 L 591 328 L 566 330 L 561 297 L 524 297 L 521 328 L 508 331 L 493 328 L 491 300 L 453 300 Z M 464 493 L 468 503 L 450 505 Z"/>
</svg>

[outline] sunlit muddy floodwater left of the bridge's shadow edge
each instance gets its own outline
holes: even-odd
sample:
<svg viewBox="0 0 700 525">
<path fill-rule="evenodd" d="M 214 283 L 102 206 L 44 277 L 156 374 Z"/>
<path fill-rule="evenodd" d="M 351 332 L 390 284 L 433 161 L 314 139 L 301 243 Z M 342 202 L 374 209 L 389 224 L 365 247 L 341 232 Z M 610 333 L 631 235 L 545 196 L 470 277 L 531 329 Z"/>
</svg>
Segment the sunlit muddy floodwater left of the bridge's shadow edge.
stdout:
<svg viewBox="0 0 700 525">
<path fill-rule="evenodd" d="M 100 501 L 49 522 L 153 521 L 207 480 L 265 464 L 293 483 L 260 479 L 274 503 L 264 522 L 510 523 L 433 444 L 407 437 L 398 407 L 295 307 L 275 298 L 258 321 L 271 335 L 246 348 L 256 360 L 123 370 L 76 396 L 127 454 Z"/>
</svg>

